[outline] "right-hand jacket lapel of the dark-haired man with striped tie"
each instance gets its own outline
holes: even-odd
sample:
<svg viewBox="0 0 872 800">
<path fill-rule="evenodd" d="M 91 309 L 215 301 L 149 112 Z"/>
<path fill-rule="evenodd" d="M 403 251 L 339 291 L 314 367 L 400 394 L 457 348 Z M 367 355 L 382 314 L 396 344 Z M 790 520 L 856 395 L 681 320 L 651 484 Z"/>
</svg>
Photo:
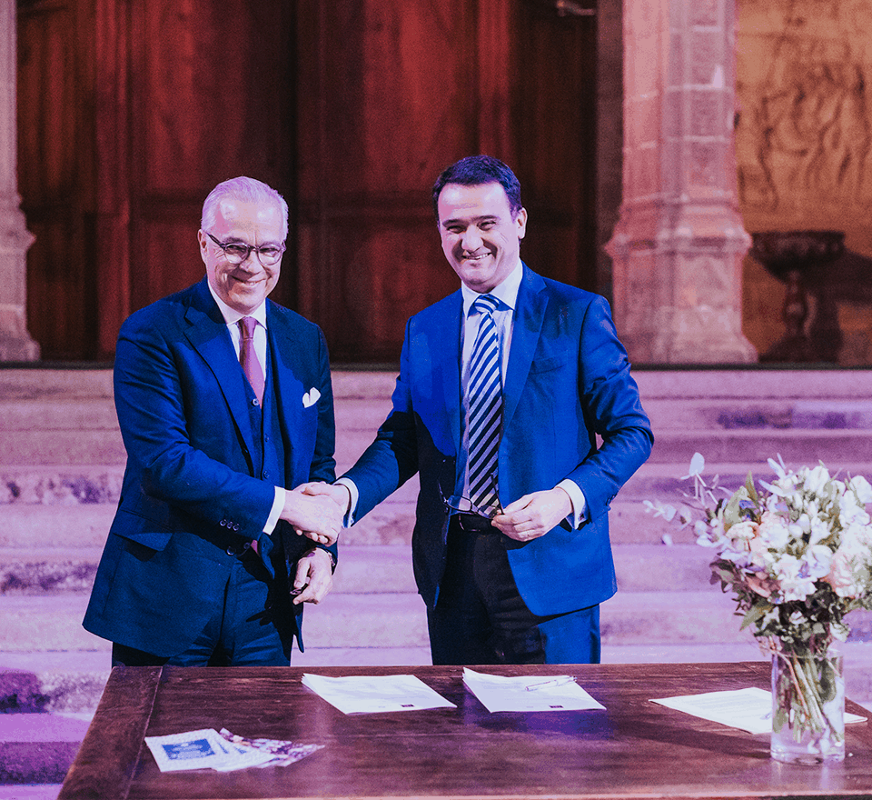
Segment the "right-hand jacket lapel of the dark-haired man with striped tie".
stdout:
<svg viewBox="0 0 872 800">
<path fill-rule="evenodd" d="M 503 387 L 505 405 L 502 412 L 502 427 L 506 430 L 512 415 L 518 408 L 520 393 L 527 383 L 533 354 L 539 343 L 542 323 L 548 296 L 544 291 L 545 282 L 540 275 L 531 272 L 524 265 L 524 276 L 520 281 L 518 302 L 515 305 L 515 319 L 511 330 L 511 350 L 509 365 L 506 368 L 506 385 Z"/>
</svg>

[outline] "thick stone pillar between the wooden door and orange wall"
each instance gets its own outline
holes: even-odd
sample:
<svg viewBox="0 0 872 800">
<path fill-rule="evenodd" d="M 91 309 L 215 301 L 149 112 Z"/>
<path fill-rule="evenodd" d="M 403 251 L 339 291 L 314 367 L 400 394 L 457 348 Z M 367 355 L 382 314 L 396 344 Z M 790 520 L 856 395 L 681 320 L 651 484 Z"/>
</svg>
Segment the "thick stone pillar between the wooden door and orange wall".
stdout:
<svg viewBox="0 0 872 800">
<path fill-rule="evenodd" d="M 742 335 L 735 0 L 624 0 L 614 312 L 638 364 L 756 361 Z"/>
</svg>

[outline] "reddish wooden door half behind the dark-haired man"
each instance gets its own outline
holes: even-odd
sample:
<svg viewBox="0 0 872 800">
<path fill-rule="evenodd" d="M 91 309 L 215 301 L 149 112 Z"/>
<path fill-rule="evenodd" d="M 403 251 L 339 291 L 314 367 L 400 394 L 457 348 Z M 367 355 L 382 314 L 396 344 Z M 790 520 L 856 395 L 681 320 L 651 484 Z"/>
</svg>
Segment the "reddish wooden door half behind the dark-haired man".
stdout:
<svg viewBox="0 0 872 800">
<path fill-rule="evenodd" d="M 593 17 L 534 0 L 298 11 L 298 297 L 334 361 L 396 362 L 406 319 L 459 285 L 430 190 L 464 155 L 519 175 L 530 265 L 592 287 Z"/>
</svg>

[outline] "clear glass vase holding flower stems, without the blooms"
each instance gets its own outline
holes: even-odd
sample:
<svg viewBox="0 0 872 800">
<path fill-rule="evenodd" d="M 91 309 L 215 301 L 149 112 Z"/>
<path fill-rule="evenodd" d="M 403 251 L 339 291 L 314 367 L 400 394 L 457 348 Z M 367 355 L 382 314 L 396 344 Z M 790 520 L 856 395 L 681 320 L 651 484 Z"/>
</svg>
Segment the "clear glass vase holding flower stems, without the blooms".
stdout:
<svg viewBox="0 0 872 800">
<path fill-rule="evenodd" d="M 788 764 L 845 758 L 845 678 L 837 645 L 823 653 L 773 646 L 770 752 Z"/>
</svg>

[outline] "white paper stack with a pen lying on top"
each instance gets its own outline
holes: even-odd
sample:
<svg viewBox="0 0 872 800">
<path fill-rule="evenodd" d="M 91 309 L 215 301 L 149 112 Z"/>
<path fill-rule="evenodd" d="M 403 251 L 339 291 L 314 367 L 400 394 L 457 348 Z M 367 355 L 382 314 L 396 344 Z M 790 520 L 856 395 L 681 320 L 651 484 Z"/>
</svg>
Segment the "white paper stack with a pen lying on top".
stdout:
<svg viewBox="0 0 872 800">
<path fill-rule="evenodd" d="M 463 683 L 494 711 L 584 711 L 601 708 L 572 675 L 486 675 L 463 668 Z"/>
</svg>

